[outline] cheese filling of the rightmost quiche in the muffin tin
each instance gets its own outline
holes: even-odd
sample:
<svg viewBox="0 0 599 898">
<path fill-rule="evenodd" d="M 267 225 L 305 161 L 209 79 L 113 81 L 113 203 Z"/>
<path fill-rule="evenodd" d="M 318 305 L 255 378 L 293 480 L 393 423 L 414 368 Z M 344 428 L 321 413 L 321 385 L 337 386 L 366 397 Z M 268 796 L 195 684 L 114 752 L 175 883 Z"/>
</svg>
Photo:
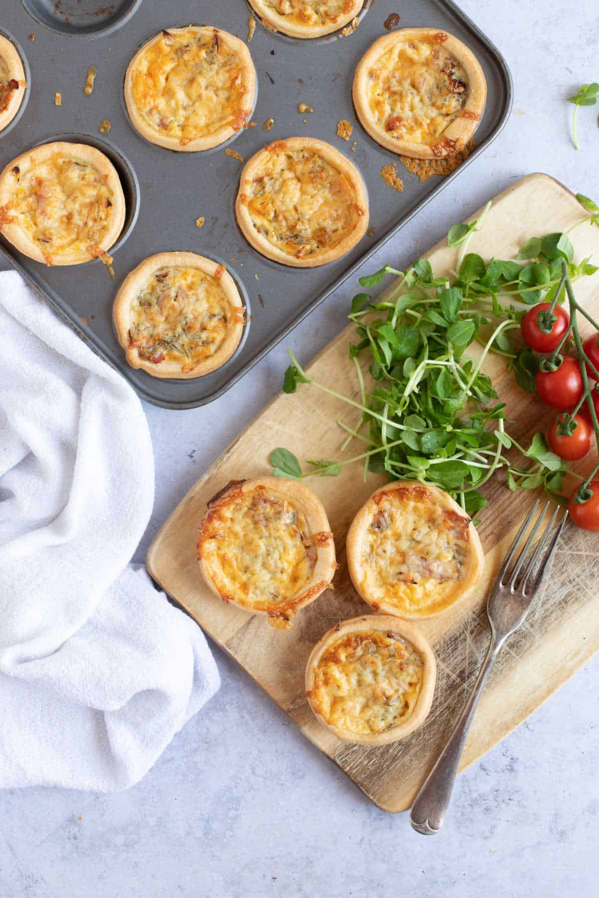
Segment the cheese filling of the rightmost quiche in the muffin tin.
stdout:
<svg viewBox="0 0 599 898">
<path fill-rule="evenodd" d="M 368 71 L 373 119 L 398 140 L 434 143 L 465 105 L 467 75 L 435 38 L 398 40 Z"/>
</svg>

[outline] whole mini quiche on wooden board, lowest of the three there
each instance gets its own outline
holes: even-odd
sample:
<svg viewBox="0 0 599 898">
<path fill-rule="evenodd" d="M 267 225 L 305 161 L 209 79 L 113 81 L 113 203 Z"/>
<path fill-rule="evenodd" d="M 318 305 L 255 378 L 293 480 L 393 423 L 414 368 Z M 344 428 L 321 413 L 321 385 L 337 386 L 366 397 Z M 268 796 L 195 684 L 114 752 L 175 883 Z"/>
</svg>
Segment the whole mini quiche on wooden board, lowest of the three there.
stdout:
<svg viewBox="0 0 599 898">
<path fill-rule="evenodd" d="M 339 739 L 386 745 L 424 723 L 435 680 L 435 656 L 418 629 L 371 614 L 338 623 L 314 646 L 305 690 Z"/>
</svg>

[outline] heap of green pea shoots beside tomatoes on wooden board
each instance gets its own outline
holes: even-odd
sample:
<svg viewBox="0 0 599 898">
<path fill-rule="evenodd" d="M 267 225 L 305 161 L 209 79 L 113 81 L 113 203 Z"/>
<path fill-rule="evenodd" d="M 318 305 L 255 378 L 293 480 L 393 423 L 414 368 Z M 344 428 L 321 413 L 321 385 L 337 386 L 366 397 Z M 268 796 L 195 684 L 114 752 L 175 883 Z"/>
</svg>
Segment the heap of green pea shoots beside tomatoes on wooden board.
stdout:
<svg viewBox="0 0 599 898">
<path fill-rule="evenodd" d="M 582 205 L 592 215 L 583 221 L 596 224 L 599 209 L 584 199 L 587 204 Z M 543 434 L 535 434 L 531 445 L 524 447 L 507 433 L 506 405 L 482 367 L 489 353 L 507 357 L 518 381 L 534 389 L 539 362 L 514 339 L 527 306 L 549 304 L 551 329 L 552 313 L 565 301 L 572 283 L 597 269 L 588 259 L 574 262 L 567 233 L 529 240 L 516 260 L 485 261 L 465 252 L 488 209 L 478 221 L 450 230 L 452 245 L 461 249 L 456 270 L 449 276 L 436 277 L 430 262 L 418 259 L 406 270 L 385 265 L 359 278 L 366 290 L 388 275 L 397 278 L 376 299 L 365 290 L 351 302 L 348 317 L 356 325 L 357 342 L 350 346 L 349 357 L 356 366 L 359 400 L 306 374 L 289 352 L 292 364 L 286 370 L 284 392 L 310 384 L 355 409 L 357 418 L 339 419 L 337 424 L 346 435 L 341 451 L 352 442 L 361 444 L 361 451 L 349 458 L 309 460 L 304 471 L 293 453 L 279 447 L 270 455 L 276 476 L 331 477 L 346 465 L 361 462 L 365 479 L 368 471 L 374 471 L 386 472 L 390 480 L 434 483 L 450 492 L 469 515 L 486 505 L 480 487 L 501 469 L 509 489 L 544 487 L 552 497 L 560 496 L 567 465 L 550 451 Z M 560 348 L 571 339 L 577 339 L 574 326 Z M 474 342 L 482 349 L 470 357 L 466 350 Z M 366 389 L 360 365 L 365 357 L 374 383 L 371 389 Z M 515 452 L 522 462 L 514 462 Z"/>
</svg>

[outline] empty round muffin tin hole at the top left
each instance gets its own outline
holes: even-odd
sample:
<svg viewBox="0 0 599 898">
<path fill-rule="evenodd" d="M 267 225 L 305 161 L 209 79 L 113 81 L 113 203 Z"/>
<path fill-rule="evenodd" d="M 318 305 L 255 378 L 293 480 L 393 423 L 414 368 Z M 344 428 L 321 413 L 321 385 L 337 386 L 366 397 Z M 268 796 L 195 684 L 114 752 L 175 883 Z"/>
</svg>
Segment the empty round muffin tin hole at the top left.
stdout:
<svg viewBox="0 0 599 898">
<path fill-rule="evenodd" d="M 22 0 L 28 13 L 61 34 L 97 35 L 116 31 L 142 0 Z"/>
</svg>

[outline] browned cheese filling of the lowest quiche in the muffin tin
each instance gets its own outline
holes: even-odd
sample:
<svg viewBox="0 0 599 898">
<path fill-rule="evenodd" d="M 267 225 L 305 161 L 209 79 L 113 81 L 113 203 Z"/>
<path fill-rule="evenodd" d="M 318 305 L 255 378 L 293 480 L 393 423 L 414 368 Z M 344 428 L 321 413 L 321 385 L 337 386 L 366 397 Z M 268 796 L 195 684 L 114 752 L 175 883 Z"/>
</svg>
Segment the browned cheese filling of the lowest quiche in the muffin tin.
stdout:
<svg viewBox="0 0 599 898">
<path fill-rule="evenodd" d="M 192 371 L 214 356 L 227 330 L 242 318 L 216 277 L 176 265 L 158 269 L 131 306 L 129 347 L 155 365 L 169 361 Z"/>
</svg>

